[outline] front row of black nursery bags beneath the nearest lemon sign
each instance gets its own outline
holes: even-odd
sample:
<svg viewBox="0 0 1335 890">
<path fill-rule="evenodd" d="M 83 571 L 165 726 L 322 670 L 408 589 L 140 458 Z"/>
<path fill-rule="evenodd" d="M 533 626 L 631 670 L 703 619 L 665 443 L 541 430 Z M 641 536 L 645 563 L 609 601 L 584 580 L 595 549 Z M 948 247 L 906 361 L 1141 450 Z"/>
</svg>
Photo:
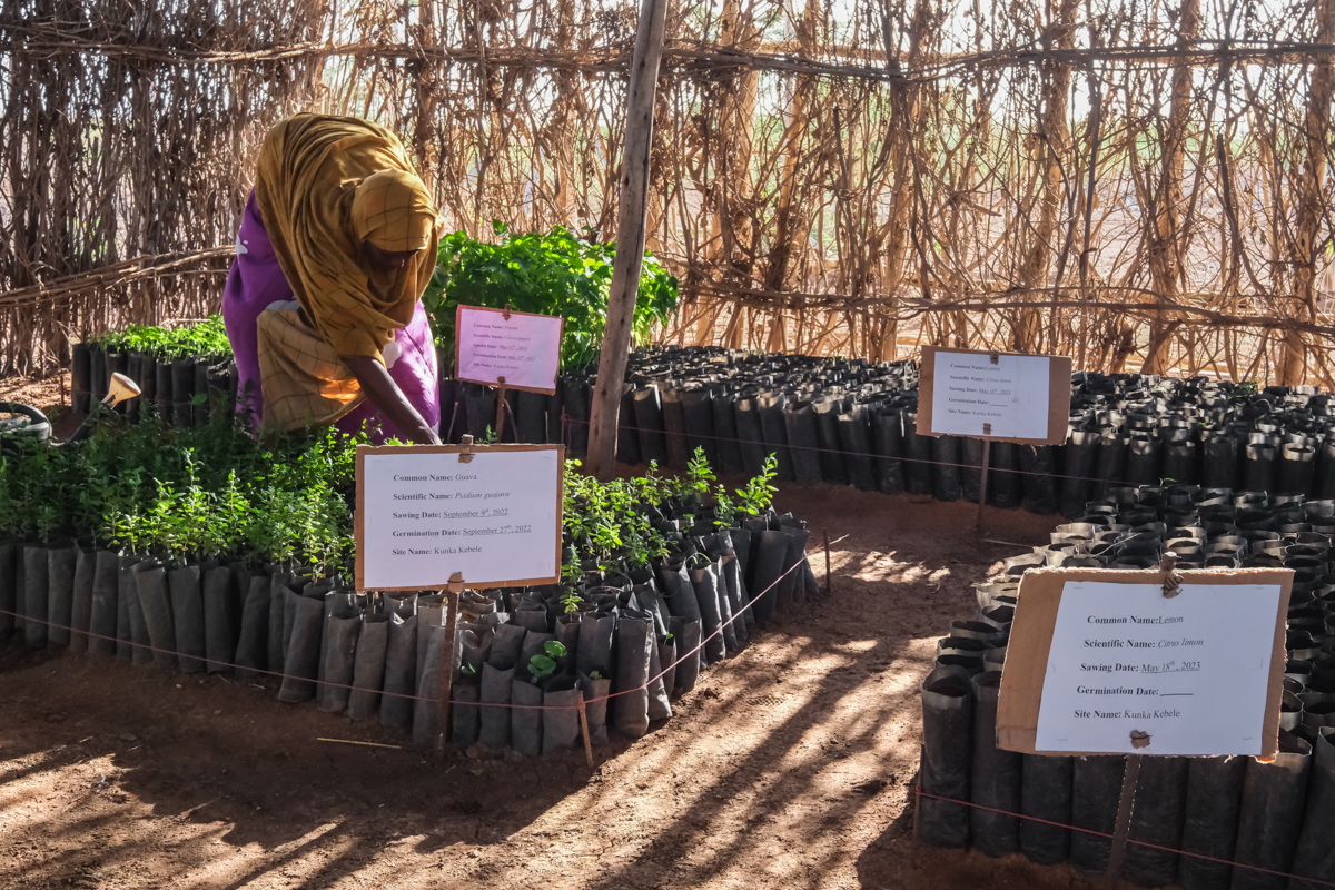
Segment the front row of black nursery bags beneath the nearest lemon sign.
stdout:
<svg viewBox="0 0 1335 890">
<path fill-rule="evenodd" d="M 920 838 L 991 857 L 1023 853 L 1040 865 L 1069 859 L 1083 874 L 1103 874 L 1125 757 L 996 747 L 1000 685 L 1000 670 L 971 674 L 959 664 L 941 664 L 922 682 Z M 1187 890 L 1284 887 L 1274 873 L 1335 881 L 1335 727 L 1315 739 L 1282 730 L 1272 763 L 1144 758 L 1121 877 Z"/>
</svg>

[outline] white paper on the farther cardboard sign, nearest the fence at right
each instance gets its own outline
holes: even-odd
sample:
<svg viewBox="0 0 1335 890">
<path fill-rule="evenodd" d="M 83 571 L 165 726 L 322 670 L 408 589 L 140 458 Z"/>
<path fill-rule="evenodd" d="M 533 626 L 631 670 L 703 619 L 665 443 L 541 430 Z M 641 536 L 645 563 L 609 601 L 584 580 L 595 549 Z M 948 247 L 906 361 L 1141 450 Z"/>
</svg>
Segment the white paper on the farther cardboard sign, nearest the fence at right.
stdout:
<svg viewBox="0 0 1335 890">
<path fill-rule="evenodd" d="M 936 352 L 932 434 L 1045 439 L 1051 363 L 1045 355 Z"/>
</svg>

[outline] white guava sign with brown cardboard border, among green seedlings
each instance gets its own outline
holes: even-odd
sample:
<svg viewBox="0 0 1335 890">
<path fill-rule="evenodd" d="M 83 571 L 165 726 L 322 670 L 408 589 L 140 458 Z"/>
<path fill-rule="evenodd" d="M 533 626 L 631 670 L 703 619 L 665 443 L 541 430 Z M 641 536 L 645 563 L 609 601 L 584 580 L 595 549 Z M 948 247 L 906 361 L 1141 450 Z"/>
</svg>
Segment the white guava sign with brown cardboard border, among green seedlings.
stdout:
<svg viewBox="0 0 1335 890">
<path fill-rule="evenodd" d="M 358 588 L 554 583 L 563 450 L 443 448 L 359 448 Z"/>
</svg>

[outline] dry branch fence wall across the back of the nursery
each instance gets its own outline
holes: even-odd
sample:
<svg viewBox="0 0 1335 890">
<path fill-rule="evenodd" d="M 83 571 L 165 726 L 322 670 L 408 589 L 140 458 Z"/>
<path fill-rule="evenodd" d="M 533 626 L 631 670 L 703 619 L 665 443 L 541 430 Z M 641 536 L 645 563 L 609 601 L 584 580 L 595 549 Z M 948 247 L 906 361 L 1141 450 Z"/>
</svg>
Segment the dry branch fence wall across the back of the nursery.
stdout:
<svg viewBox="0 0 1335 890">
<path fill-rule="evenodd" d="M 299 109 L 394 127 L 457 228 L 613 236 L 633 4 L 0 9 L 0 372 L 216 308 Z M 1335 0 L 676 3 L 663 336 L 1335 386 L 1332 43 Z"/>
</svg>

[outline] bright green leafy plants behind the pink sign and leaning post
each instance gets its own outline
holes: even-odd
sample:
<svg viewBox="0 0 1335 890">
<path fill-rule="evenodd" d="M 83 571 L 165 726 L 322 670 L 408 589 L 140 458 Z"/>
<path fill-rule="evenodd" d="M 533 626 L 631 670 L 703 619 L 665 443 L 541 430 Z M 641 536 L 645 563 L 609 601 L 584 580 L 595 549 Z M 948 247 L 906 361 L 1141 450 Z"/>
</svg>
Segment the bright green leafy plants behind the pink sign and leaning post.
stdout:
<svg viewBox="0 0 1335 890">
<path fill-rule="evenodd" d="M 465 306 L 510 308 L 565 319 L 561 362 L 566 367 L 598 358 L 607 319 L 615 244 L 578 238 L 565 227 L 546 234 L 513 235 L 493 221 L 499 242 L 479 242 L 465 232 L 441 239 L 435 274 L 422 302 L 442 355 L 454 355 L 455 310 Z M 591 235 L 593 230 L 585 230 Z M 654 323 L 677 310 L 677 279 L 646 252 L 631 335 L 643 343 Z"/>
</svg>

